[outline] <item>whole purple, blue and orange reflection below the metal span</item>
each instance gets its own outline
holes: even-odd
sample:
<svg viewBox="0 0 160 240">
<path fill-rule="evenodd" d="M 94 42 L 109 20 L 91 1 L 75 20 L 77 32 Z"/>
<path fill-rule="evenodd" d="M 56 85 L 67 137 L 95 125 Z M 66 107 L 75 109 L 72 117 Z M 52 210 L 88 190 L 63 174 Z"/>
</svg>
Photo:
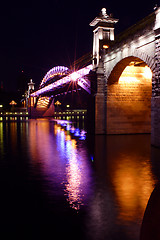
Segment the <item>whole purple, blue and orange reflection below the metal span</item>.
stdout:
<svg viewBox="0 0 160 240">
<path fill-rule="evenodd" d="M 86 149 L 78 150 L 69 129 L 66 121 L 52 124 L 52 128 L 47 120 L 31 121 L 29 145 L 31 157 L 42 165 L 42 174 L 50 182 L 50 188 L 57 182 L 64 189 L 70 206 L 79 210 L 89 191 L 89 166 L 85 159 Z"/>
</svg>

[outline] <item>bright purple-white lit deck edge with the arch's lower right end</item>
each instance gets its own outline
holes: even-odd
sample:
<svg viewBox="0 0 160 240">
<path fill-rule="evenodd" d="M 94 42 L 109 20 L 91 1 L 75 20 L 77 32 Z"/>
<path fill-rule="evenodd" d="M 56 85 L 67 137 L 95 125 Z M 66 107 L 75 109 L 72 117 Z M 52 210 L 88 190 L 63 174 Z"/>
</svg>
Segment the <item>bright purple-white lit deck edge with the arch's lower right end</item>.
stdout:
<svg viewBox="0 0 160 240">
<path fill-rule="evenodd" d="M 89 74 L 89 72 L 90 72 L 90 70 L 92 70 L 92 68 L 93 68 L 93 66 L 91 64 L 91 65 L 88 65 L 87 67 L 82 68 L 76 72 L 77 76 L 78 76 L 77 85 L 79 85 L 80 87 L 85 89 L 88 93 L 90 93 L 90 82 L 88 80 L 84 79 L 84 76 Z M 72 81 L 72 75 L 73 75 L 73 73 L 69 74 L 66 77 L 61 78 L 60 80 L 57 80 L 54 83 L 49 84 L 46 87 L 39 89 L 38 91 L 32 93 L 31 96 L 36 97 L 36 96 L 41 95 L 42 93 L 48 92 L 50 90 L 54 90 L 57 87 L 68 84 L 69 82 Z"/>
</svg>

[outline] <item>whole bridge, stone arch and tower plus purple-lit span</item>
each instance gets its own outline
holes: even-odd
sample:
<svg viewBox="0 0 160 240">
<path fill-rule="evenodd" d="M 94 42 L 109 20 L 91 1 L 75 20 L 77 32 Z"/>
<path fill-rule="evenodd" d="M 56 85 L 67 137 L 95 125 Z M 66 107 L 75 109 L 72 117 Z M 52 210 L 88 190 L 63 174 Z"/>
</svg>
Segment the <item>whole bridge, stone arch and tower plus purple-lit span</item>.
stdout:
<svg viewBox="0 0 160 240">
<path fill-rule="evenodd" d="M 90 23 L 92 64 L 48 85 L 46 76 L 31 97 L 54 98 L 74 82 L 90 95 L 96 134 L 151 133 L 151 143 L 160 147 L 160 8 L 115 37 L 117 22 L 103 8 Z"/>
</svg>

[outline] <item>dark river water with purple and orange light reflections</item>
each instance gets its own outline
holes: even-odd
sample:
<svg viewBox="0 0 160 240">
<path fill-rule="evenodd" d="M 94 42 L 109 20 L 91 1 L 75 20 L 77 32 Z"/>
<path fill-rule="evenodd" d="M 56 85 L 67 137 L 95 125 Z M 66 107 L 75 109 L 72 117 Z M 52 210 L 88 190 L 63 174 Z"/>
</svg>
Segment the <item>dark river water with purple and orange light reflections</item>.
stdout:
<svg viewBox="0 0 160 240">
<path fill-rule="evenodd" d="M 0 122 L 1 239 L 138 240 L 159 156 L 150 135 Z"/>
</svg>

